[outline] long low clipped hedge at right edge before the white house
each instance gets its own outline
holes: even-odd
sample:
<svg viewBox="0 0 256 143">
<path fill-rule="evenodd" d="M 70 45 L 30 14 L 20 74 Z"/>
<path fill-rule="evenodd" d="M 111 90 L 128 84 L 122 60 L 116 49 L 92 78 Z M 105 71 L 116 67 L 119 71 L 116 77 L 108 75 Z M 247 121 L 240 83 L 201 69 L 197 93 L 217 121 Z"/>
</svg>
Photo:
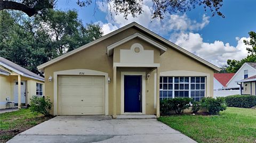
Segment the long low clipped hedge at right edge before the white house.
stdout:
<svg viewBox="0 0 256 143">
<path fill-rule="evenodd" d="M 228 107 L 251 108 L 256 106 L 256 96 L 253 95 L 226 96 L 225 101 Z"/>
</svg>

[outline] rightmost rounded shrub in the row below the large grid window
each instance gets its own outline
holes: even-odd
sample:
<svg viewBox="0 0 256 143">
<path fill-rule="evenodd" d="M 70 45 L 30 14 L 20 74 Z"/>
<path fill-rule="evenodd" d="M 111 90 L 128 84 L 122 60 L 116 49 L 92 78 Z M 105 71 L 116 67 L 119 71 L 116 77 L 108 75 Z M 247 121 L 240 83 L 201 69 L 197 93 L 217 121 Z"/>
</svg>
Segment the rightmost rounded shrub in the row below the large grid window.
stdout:
<svg viewBox="0 0 256 143">
<path fill-rule="evenodd" d="M 223 103 L 221 99 L 214 99 L 211 97 L 206 97 L 200 101 L 201 107 L 206 107 L 209 114 L 217 115 L 220 111 L 226 110 L 227 106 Z"/>
</svg>

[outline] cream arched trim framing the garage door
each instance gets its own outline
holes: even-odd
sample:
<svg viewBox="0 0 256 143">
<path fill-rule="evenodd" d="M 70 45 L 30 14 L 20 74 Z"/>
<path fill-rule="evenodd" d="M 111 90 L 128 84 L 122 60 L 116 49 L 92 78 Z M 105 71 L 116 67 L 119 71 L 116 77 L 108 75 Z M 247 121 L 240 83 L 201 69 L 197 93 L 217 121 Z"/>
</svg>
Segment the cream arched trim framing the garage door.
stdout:
<svg viewBox="0 0 256 143">
<path fill-rule="evenodd" d="M 83 75 L 103 75 L 105 76 L 105 115 L 108 115 L 108 73 L 87 69 L 74 69 L 74 70 L 65 70 L 57 71 L 53 74 L 53 114 L 58 115 L 59 106 L 58 106 L 58 75 L 81 75 L 79 73 L 84 73 Z"/>
</svg>

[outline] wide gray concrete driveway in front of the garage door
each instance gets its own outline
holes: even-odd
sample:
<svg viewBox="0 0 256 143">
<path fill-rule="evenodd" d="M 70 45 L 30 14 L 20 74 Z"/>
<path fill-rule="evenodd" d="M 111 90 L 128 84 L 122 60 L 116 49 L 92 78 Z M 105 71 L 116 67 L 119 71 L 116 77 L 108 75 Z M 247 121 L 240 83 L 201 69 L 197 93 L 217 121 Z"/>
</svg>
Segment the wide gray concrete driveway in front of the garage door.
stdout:
<svg viewBox="0 0 256 143">
<path fill-rule="evenodd" d="M 57 116 L 8 142 L 196 142 L 156 119 Z"/>
</svg>

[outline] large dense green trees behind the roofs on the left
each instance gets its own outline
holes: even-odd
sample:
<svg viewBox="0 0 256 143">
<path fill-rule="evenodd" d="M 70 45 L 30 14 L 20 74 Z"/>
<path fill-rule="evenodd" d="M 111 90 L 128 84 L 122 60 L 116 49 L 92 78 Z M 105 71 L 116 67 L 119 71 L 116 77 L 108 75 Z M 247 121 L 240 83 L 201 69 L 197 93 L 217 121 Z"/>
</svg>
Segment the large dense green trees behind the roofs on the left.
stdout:
<svg viewBox="0 0 256 143">
<path fill-rule="evenodd" d="M 99 24 L 84 25 L 71 10 L 48 10 L 35 18 L 3 11 L 0 21 L 0 56 L 35 73 L 36 66 L 103 35 Z"/>
</svg>

